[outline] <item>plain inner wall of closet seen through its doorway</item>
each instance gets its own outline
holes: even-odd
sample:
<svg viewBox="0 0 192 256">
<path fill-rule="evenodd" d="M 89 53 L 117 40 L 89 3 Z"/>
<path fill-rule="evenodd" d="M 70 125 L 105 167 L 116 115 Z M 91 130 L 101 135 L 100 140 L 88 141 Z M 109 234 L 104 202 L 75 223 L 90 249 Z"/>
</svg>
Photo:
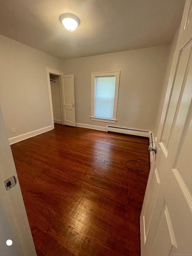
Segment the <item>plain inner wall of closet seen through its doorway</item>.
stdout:
<svg viewBox="0 0 192 256">
<path fill-rule="evenodd" d="M 53 118 L 54 121 L 61 121 L 61 101 L 59 91 L 59 80 L 56 79 L 55 83 L 51 83 L 51 98 L 53 105 Z"/>
</svg>

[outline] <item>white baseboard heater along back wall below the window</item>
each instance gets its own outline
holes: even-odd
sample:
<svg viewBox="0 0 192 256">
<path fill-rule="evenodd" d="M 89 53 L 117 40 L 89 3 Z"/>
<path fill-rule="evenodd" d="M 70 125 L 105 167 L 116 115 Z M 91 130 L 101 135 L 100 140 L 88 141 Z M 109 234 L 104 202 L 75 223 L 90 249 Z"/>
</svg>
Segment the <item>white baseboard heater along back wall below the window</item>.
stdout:
<svg viewBox="0 0 192 256">
<path fill-rule="evenodd" d="M 149 137 L 149 131 L 135 130 L 135 129 L 129 129 L 129 128 L 123 128 L 123 127 L 115 127 L 115 126 L 110 126 L 110 125 L 107 125 L 106 131 L 113 131 L 113 132 L 119 132 L 119 133 L 124 133 L 124 134 Z"/>
</svg>

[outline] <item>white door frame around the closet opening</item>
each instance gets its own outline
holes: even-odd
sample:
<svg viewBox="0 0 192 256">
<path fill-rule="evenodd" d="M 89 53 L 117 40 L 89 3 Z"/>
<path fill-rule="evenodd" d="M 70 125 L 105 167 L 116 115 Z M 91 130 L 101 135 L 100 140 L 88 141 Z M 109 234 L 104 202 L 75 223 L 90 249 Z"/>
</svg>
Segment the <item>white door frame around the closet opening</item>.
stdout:
<svg viewBox="0 0 192 256">
<path fill-rule="evenodd" d="M 61 79 L 61 77 L 63 76 L 63 72 L 52 69 L 52 68 L 47 68 L 47 67 L 46 67 L 46 72 L 47 72 L 47 84 L 48 84 L 48 93 L 49 93 L 49 106 L 50 106 L 50 112 L 51 112 L 51 125 L 52 125 L 52 129 L 54 129 L 53 105 L 52 105 L 51 83 L 50 83 L 49 74 L 57 75 L 59 77 L 59 92 L 60 92 L 60 102 L 61 102 L 61 120 L 62 120 L 62 125 L 64 125 L 64 112 L 63 112 L 64 95 L 62 93 L 62 79 Z"/>
</svg>

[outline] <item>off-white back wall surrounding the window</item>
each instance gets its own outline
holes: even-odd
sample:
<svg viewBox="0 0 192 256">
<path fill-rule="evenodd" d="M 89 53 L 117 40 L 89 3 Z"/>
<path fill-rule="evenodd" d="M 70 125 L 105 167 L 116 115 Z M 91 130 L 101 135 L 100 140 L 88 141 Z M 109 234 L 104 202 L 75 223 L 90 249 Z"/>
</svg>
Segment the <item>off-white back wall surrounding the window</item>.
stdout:
<svg viewBox="0 0 192 256">
<path fill-rule="evenodd" d="M 109 124 L 90 119 L 91 72 L 120 70 L 116 126 L 153 131 L 168 53 L 160 46 L 64 61 L 64 74 L 74 74 L 76 123 Z"/>
</svg>

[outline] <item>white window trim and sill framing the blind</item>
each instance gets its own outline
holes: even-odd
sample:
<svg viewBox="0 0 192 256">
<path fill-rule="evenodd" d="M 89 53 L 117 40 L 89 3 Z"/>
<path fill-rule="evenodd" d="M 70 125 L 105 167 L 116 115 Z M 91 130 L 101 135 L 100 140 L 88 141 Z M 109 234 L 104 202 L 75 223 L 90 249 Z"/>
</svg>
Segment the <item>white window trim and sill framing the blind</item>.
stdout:
<svg viewBox="0 0 192 256">
<path fill-rule="evenodd" d="M 102 118 L 94 116 L 95 109 L 95 77 L 107 77 L 107 76 L 116 76 L 115 80 L 115 93 L 114 93 L 114 103 L 113 103 L 113 118 Z M 117 103 L 118 103 L 118 94 L 119 94 L 119 80 L 120 80 L 120 71 L 108 71 L 108 72 L 92 72 L 91 73 L 91 120 L 106 122 L 116 124 L 117 117 Z"/>
</svg>

